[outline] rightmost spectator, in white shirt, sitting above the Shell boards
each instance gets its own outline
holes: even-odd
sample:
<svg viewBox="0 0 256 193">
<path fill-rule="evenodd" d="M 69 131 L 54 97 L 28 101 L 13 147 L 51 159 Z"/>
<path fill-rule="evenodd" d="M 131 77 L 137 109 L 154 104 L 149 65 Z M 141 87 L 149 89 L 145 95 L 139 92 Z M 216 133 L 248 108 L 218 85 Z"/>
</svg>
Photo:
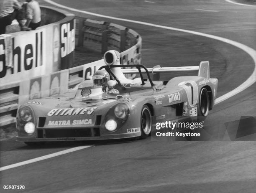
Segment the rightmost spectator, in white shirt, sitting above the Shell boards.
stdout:
<svg viewBox="0 0 256 193">
<path fill-rule="evenodd" d="M 26 26 L 35 30 L 41 24 L 41 10 L 36 0 L 26 0 L 27 3 L 27 22 Z"/>
</svg>

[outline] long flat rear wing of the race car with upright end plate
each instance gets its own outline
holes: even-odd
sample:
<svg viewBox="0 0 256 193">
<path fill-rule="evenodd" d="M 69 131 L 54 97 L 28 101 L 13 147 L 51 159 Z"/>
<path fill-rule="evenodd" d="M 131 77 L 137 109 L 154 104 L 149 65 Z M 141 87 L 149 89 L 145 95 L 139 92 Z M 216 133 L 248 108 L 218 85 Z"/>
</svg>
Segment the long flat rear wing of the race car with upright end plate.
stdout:
<svg viewBox="0 0 256 193">
<path fill-rule="evenodd" d="M 202 61 L 200 62 L 199 66 L 160 67 L 158 65 L 158 66 L 154 66 L 153 68 L 147 68 L 147 69 L 148 69 L 148 72 L 152 72 L 152 74 L 156 77 L 159 76 L 159 73 L 163 73 L 163 72 L 198 71 L 197 76 L 202 76 L 206 79 L 210 78 L 209 61 Z M 138 69 L 122 69 L 122 72 L 123 74 L 139 73 Z M 146 73 L 144 69 L 141 69 L 141 72 Z"/>
</svg>

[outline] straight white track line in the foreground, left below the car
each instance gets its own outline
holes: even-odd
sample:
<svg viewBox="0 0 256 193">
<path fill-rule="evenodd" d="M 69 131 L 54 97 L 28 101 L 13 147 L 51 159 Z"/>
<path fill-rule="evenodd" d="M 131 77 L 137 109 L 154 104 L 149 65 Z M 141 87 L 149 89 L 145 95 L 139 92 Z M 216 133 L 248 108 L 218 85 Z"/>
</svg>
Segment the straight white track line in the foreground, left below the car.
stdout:
<svg viewBox="0 0 256 193">
<path fill-rule="evenodd" d="M 46 159 L 49 159 L 51 157 L 56 157 L 56 156 L 63 155 L 63 154 L 66 154 L 66 153 L 82 150 L 82 149 L 85 149 L 85 148 L 88 148 L 88 147 L 92 147 L 92 146 L 88 146 L 88 145 L 87 146 L 79 146 L 79 147 L 74 147 L 74 148 L 70 148 L 70 149 L 67 149 L 67 150 L 63 150 L 63 151 L 60 151 L 60 152 L 44 155 L 44 156 L 41 156 L 41 157 L 36 157 L 34 159 L 31 159 L 31 160 L 26 160 L 26 161 L 23 161 L 23 162 L 19 162 L 19 163 L 15 163 L 15 164 L 12 164 L 12 165 L 7 165 L 7 166 L 4 166 L 4 167 L 1 167 L 0 171 L 8 170 L 8 169 L 11 169 L 11 168 L 16 168 L 16 167 L 19 167 L 19 166 L 22 166 L 22 165 L 27 165 L 27 164 L 38 162 L 38 161 L 41 161 L 41 160 L 46 160 Z"/>
</svg>

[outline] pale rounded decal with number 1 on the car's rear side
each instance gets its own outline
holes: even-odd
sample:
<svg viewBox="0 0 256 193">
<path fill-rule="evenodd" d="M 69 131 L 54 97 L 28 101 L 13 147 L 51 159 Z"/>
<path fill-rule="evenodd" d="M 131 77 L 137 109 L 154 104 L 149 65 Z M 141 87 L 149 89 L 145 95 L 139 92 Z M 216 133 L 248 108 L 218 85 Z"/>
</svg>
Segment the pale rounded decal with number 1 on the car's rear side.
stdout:
<svg viewBox="0 0 256 193">
<path fill-rule="evenodd" d="M 189 105 L 191 107 L 194 107 L 195 104 L 197 104 L 198 99 L 198 86 L 195 81 L 184 81 L 178 84 L 178 86 L 181 86 L 183 89 L 185 89 L 187 93 L 187 98 Z"/>
</svg>

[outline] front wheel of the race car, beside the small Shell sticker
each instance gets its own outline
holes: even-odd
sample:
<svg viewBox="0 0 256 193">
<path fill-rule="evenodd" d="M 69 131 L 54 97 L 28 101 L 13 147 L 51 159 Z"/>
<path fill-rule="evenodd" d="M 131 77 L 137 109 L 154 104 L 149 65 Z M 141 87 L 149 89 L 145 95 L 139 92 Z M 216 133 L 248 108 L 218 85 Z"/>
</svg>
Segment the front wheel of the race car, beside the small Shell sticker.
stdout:
<svg viewBox="0 0 256 193">
<path fill-rule="evenodd" d="M 152 129 L 152 117 L 148 106 L 144 105 L 141 110 L 141 139 L 150 135 Z"/>
</svg>

